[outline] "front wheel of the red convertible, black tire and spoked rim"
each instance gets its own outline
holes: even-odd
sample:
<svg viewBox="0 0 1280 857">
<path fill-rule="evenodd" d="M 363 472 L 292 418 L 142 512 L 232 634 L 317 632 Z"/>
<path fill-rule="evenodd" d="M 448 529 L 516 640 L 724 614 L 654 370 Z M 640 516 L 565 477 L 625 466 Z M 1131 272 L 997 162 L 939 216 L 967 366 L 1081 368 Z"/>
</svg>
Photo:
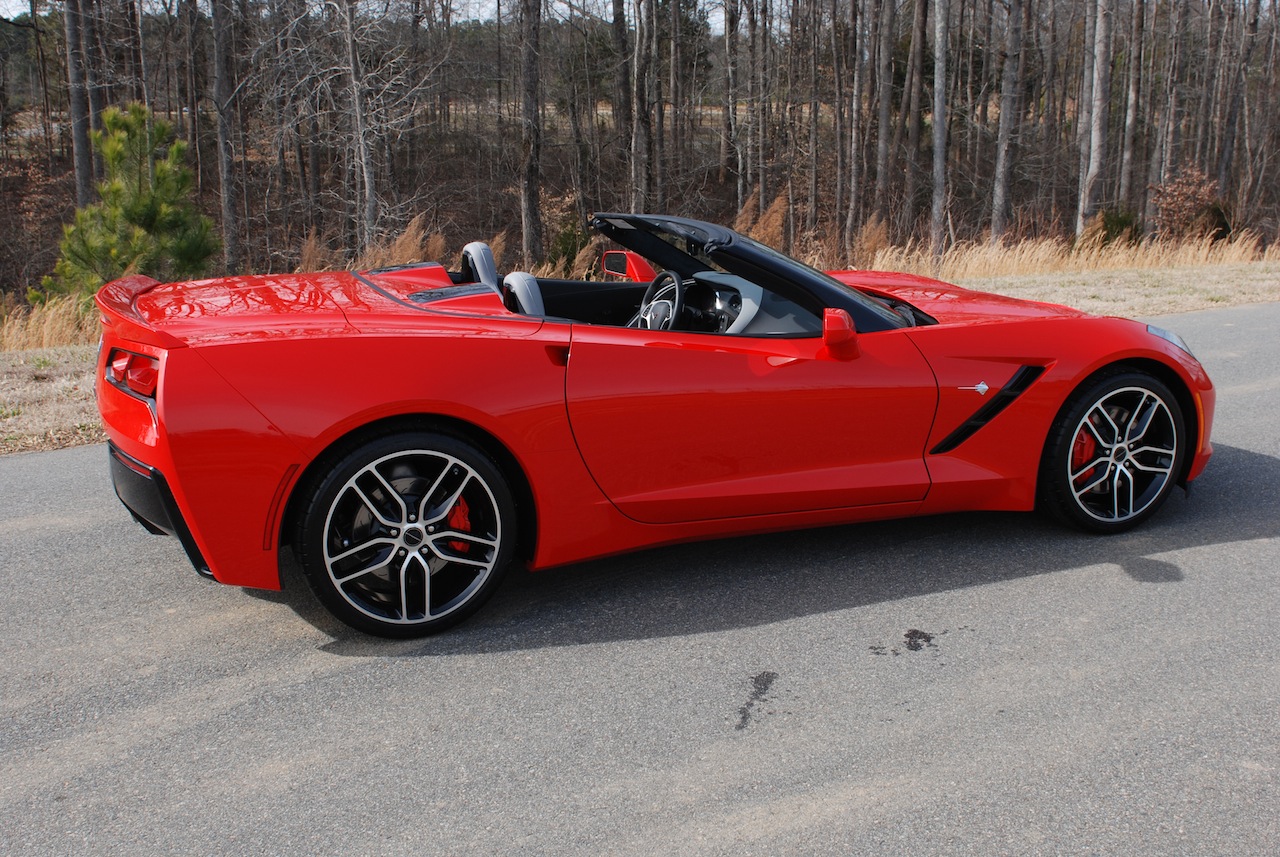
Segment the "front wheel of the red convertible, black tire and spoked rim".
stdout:
<svg viewBox="0 0 1280 857">
<path fill-rule="evenodd" d="M 1165 503 L 1181 473 L 1187 427 L 1172 391 L 1137 371 L 1076 390 L 1044 443 L 1039 505 L 1089 532 L 1130 530 Z"/>
</svg>

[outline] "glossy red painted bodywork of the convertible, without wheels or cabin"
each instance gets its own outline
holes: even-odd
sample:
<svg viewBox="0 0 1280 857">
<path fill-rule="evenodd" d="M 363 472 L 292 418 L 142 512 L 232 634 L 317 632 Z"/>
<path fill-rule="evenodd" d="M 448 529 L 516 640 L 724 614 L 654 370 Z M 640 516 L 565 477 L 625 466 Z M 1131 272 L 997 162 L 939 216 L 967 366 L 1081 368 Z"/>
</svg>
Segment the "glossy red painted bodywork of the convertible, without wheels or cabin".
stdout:
<svg viewBox="0 0 1280 857">
<path fill-rule="evenodd" d="M 820 334 L 516 315 L 438 265 L 127 278 L 97 297 L 99 405 L 111 443 L 165 477 L 212 576 L 265 588 L 279 586 L 300 485 L 390 421 L 503 452 L 532 500 L 532 568 L 737 532 L 1032 509 L 1050 426 L 1116 363 L 1180 393 L 1194 420 L 1187 478 L 1208 460 L 1212 385 L 1140 324 L 923 278 L 836 276 L 940 324 L 850 331 L 855 347 L 833 349 Z M 931 454 L 1021 367 L 1043 373 L 959 448 Z"/>
</svg>

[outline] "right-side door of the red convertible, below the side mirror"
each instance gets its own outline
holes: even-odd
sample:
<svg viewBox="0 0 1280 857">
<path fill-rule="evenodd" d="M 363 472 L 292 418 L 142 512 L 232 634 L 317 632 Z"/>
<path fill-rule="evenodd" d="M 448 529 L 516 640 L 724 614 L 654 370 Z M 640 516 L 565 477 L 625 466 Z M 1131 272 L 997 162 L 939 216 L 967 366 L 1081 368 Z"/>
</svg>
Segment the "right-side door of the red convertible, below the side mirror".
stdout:
<svg viewBox="0 0 1280 857">
<path fill-rule="evenodd" d="M 645 523 L 919 501 L 933 373 L 900 330 L 855 350 L 573 325 L 570 423 L 604 494 Z"/>
</svg>

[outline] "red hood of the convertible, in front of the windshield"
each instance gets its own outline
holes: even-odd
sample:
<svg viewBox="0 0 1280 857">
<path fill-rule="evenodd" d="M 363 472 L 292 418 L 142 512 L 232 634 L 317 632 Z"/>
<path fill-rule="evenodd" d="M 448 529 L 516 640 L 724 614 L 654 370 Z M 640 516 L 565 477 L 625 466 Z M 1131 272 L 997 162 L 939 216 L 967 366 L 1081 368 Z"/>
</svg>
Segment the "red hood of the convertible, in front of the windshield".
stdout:
<svg viewBox="0 0 1280 857">
<path fill-rule="evenodd" d="M 887 271 L 832 271 L 831 275 L 860 292 L 905 301 L 940 324 L 982 324 L 1015 318 L 1080 317 L 1089 313 L 1057 303 L 1021 301 L 991 292 L 974 292 L 914 274 Z"/>
</svg>

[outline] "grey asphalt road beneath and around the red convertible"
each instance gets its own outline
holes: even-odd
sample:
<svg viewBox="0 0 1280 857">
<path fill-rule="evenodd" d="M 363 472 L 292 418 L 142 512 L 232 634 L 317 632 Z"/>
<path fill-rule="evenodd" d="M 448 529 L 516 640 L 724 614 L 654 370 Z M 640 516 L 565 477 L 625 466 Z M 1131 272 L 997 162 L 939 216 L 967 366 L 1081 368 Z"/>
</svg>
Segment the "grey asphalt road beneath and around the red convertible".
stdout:
<svg viewBox="0 0 1280 857">
<path fill-rule="evenodd" d="M 3 458 L 0 853 L 1280 853 L 1280 304 L 1162 324 L 1217 453 L 1137 532 L 671 547 L 408 643 L 197 578 L 101 446 Z"/>
</svg>

